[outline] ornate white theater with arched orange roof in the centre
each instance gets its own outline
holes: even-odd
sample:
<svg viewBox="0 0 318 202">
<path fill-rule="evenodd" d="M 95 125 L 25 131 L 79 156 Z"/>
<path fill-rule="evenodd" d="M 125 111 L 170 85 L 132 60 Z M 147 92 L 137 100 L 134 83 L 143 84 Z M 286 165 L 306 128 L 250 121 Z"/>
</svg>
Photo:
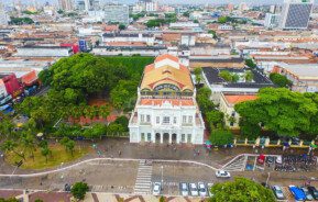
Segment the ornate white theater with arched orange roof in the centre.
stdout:
<svg viewBox="0 0 318 202">
<path fill-rule="evenodd" d="M 129 131 L 131 143 L 204 143 L 196 89 L 177 57 L 161 55 L 145 67 Z"/>
</svg>

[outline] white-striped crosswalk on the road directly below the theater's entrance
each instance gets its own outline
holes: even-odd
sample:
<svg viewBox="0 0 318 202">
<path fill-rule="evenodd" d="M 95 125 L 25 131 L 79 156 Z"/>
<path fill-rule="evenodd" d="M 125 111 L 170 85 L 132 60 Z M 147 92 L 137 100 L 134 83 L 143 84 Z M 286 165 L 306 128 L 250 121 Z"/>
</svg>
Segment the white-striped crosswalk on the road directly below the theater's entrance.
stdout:
<svg viewBox="0 0 318 202">
<path fill-rule="evenodd" d="M 152 165 L 145 160 L 140 160 L 136 180 L 134 184 L 135 194 L 150 194 L 152 178 Z"/>
</svg>

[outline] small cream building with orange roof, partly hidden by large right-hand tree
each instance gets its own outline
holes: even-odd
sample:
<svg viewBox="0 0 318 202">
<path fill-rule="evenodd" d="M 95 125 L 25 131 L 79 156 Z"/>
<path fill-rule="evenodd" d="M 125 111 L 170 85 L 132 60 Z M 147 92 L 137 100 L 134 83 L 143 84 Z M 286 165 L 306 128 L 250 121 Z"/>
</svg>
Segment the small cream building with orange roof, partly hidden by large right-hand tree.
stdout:
<svg viewBox="0 0 318 202">
<path fill-rule="evenodd" d="M 224 123 L 232 130 L 239 128 L 240 114 L 235 112 L 234 105 L 241 102 L 256 100 L 256 94 L 223 94 L 220 98 L 220 111 L 224 113 Z M 232 119 L 229 119 L 232 117 Z"/>
</svg>

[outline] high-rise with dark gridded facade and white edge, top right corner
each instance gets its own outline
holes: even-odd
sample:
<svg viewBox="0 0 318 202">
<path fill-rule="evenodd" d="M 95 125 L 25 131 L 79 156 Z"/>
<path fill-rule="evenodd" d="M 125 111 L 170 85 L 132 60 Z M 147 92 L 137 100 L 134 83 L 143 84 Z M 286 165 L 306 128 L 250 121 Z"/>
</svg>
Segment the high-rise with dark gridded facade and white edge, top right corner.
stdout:
<svg viewBox="0 0 318 202">
<path fill-rule="evenodd" d="M 283 30 L 306 30 L 314 0 L 285 0 L 279 26 Z"/>
</svg>

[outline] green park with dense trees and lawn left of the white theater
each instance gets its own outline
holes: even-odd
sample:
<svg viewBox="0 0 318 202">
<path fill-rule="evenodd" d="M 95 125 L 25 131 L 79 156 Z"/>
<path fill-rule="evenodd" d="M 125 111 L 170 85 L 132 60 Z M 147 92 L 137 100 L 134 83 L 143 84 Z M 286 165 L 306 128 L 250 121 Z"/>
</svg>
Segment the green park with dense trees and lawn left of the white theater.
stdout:
<svg viewBox="0 0 318 202">
<path fill-rule="evenodd" d="M 78 159 L 90 152 L 80 147 L 78 138 L 127 134 L 128 119 L 136 100 L 143 69 L 153 57 L 99 57 L 77 54 L 59 59 L 40 72 L 46 94 L 26 97 L 15 104 L 15 117 L 0 114 L 1 150 L 11 164 L 23 161 L 22 168 L 43 169 Z M 91 99 L 105 100 L 91 104 Z M 116 112 L 116 120 L 107 117 Z M 80 120 L 90 120 L 81 123 Z M 96 122 L 95 120 L 98 120 Z M 39 137 L 39 134 L 42 134 Z M 50 144 L 46 139 L 57 139 Z"/>
</svg>

